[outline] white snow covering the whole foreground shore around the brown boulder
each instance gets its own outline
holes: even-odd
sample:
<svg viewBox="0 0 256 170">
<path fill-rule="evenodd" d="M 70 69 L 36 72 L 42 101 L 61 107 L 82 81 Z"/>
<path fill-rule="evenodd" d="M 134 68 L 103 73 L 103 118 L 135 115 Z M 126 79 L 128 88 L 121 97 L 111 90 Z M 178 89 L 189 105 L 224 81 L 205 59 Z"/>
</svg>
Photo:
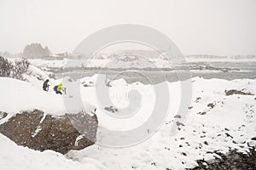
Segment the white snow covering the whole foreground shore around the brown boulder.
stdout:
<svg viewBox="0 0 256 170">
<path fill-rule="evenodd" d="M 113 106 L 123 108 L 129 105 L 129 92 L 137 90 L 142 97 L 142 103 L 135 116 L 116 121 L 104 111 L 105 106 L 98 103 L 96 77 L 84 77 L 76 82 L 50 80 L 50 91 L 42 90 L 43 81 L 37 75 L 45 76 L 37 68 L 31 68 L 28 82 L 10 78 L 0 78 L 0 111 L 6 111 L 12 116 L 17 111 L 40 109 L 49 114 L 61 115 L 67 111 L 63 97 L 73 102 L 74 107 L 68 111 L 97 108 L 96 115 L 99 126 L 111 130 L 126 130 L 135 128 L 145 122 L 154 109 L 154 94 L 152 85 L 142 83 L 127 84 L 124 80 L 111 83 L 109 96 Z M 37 74 L 38 73 L 38 74 Z M 43 75 L 43 76 L 42 76 Z M 53 92 L 55 84 L 62 82 L 67 87 L 67 94 L 61 96 Z M 255 95 L 235 94 L 227 96 L 224 91 L 237 89 L 256 94 L 256 80 L 241 79 L 226 81 L 221 79 L 205 80 L 195 77 L 192 80 L 192 99 L 188 115 L 183 126 L 177 133 L 171 133 L 174 116 L 180 105 L 180 82 L 165 82 L 170 93 L 170 109 L 166 120 L 154 135 L 143 143 L 125 147 L 109 148 L 101 145 L 101 139 L 110 138 L 108 133 L 102 133 L 99 128 L 97 144 L 84 150 L 71 151 L 61 156 L 53 151 L 38 152 L 17 146 L 0 134 L 0 169 L 111 169 L 138 170 L 148 169 L 184 169 L 195 167 L 196 160 L 211 160 L 218 155 L 213 150 L 227 152 L 230 149 L 248 150 L 248 143 L 253 144 L 256 137 L 256 99 Z M 90 86 L 84 86 L 89 84 Z M 72 87 L 79 87 L 78 91 Z M 78 104 L 82 99 L 84 107 Z M 81 106 L 81 107 L 80 107 Z M 122 114 L 118 110 L 115 114 Z M 0 123 L 7 121 L 7 116 Z M 147 132 L 145 132 L 147 133 Z M 72 161 L 73 160 L 73 161 Z M 98 163 L 97 161 L 100 163 Z M 102 165 L 101 165 L 102 164 Z"/>
</svg>

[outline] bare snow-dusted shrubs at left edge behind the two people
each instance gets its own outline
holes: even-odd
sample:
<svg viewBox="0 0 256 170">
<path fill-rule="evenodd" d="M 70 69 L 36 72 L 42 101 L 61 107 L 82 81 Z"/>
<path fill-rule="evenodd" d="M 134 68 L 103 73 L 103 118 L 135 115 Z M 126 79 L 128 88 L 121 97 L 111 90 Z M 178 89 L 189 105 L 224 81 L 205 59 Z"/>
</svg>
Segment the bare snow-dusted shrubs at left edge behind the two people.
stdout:
<svg viewBox="0 0 256 170">
<path fill-rule="evenodd" d="M 30 63 L 27 59 L 15 59 L 12 62 L 0 56 L 0 77 L 24 80 L 23 73 L 28 70 L 29 65 Z"/>
</svg>

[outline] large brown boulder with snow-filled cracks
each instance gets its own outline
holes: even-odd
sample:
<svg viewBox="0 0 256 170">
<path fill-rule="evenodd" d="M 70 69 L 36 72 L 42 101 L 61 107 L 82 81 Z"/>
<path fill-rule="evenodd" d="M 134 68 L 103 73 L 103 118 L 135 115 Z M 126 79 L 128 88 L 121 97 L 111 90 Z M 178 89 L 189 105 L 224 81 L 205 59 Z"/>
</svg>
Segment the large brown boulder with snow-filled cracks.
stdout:
<svg viewBox="0 0 256 170">
<path fill-rule="evenodd" d="M 66 154 L 69 150 L 82 150 L 94 144 L 97 126 L 94 113 L 51 116 L 34 110 L 9 118 L 0 125 L 0 133 L 33 150 L 55 150 Z"/>
</svg>

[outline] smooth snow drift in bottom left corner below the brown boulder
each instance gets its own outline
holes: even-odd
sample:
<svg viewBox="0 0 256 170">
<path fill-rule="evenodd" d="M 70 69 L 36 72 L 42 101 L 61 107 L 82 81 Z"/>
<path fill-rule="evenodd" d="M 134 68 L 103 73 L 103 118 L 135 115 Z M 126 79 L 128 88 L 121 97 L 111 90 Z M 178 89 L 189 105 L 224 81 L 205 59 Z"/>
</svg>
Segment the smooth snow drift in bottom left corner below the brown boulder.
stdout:
<svg viewBox="0 0 256 170">
<path fill-rule="evenodd" d="M 108 170 L 99 161 L 87 157 L 80 163 L 52 150 L 40 152 L 18 146 L 1 133 L 0 150 L 1 170 Z"/>
</svg>

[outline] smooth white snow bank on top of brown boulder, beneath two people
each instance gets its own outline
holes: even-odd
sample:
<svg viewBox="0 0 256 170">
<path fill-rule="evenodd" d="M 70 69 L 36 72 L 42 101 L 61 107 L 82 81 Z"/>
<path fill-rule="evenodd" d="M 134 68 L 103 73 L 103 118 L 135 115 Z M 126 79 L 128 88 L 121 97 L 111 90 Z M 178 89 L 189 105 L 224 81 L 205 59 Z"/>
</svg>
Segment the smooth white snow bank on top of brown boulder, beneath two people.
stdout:
<svg viewBox="0 0 256 170">
<path fill-rule="evenodd" d="M 43 82 L 47 78 L 44 71 L 30 65 L 28 74 L 25 75 L 26 81 L 20 81 L 9 77 L 0 77 L 0 111 L 9 113 L 9 116 L 26 110 L 42 110 L 46 113 L 61 116 L 67 113 L 67 109 L 61 95 L 55 94 L 55 85 L 60 82 L 67 82 L 67 79 L 53 80 L 49 82 L 49 92 L 43 90 Z M 67 93 L 68 95 L 68 93 Z M 95 106 L 84 102 L 87 111 L 94 111 Z M 69 112 L 79 112 L 80 108 L 69 107 Z"/>
</svg>

